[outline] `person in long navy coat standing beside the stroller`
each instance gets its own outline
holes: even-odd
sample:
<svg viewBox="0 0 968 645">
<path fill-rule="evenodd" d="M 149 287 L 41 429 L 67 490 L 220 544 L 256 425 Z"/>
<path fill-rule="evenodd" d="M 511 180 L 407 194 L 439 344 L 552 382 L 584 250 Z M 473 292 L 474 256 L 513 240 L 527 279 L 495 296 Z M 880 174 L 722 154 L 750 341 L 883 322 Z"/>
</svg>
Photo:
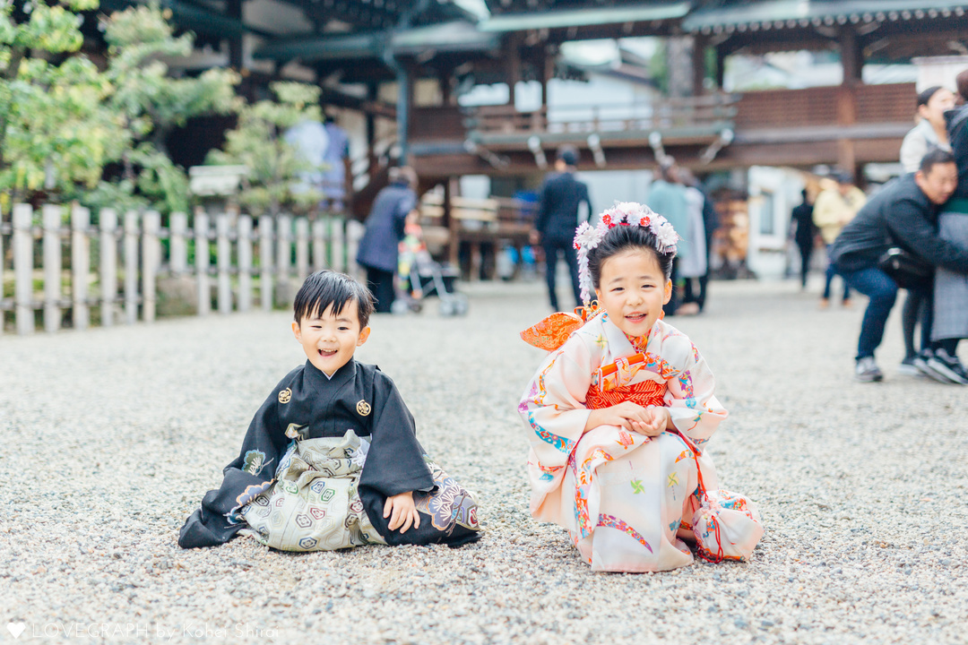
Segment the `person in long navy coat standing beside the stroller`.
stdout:
<svg viewBox="0 0 968 645">
<path fill-rule="evenodd" d="M 416 188 L 417 173 L 413 168 L 390 168 L 390 185 L 377 193 L 356 251 L 356 262 L 366 269 L 367 286 L 381 313 L 388 313 L 393 305 L 399 245 L 404 239 L 408 213 L 417 205 Z"/>
</svg>

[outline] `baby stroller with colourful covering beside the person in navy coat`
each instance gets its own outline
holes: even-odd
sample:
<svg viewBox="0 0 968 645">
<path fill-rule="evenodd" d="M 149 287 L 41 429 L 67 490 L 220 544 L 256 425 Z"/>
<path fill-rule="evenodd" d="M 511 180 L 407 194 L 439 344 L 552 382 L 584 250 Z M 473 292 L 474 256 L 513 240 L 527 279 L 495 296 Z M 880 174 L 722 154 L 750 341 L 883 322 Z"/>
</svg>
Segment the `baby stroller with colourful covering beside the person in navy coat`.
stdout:
<svg viewBox="0 0 968 645">
<path fill-rule="evenodd" d="M 418 312 L 423 309 L 425 299 L 436 295 L 441 316 L 467 314 L 468 297 L 454 288 L 457 272 L 434 261 L 423 243 L 420 225 L 412 220 L 408 221 L 400 243 L 397 276 L 397 298 L 391 307 L 393 313 Z"/>
</svg>

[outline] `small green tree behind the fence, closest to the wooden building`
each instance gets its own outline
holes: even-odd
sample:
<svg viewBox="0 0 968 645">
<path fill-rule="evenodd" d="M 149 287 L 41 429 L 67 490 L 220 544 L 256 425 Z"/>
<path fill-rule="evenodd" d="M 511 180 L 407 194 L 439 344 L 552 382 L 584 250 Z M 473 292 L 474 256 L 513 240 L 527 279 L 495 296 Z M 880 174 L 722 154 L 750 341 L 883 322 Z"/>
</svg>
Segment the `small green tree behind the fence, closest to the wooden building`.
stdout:
<svg viewBox="0 0 968 645">
<path fill-rule="evenodd" d="M 321 121 L 319 88 L 294 82 L 273 83 L 271 88 L 278 102 L 245 105 L 238 126 L 226 134 L 225 150 L 213 150 L 207 161 L 249 168 L 239 202 L 253 215 L 304 213 L 323 195 L 302 188 L 301 176 L 321 168 L 303 159 L 283 133 L 304 121 Z"/>
</svg>

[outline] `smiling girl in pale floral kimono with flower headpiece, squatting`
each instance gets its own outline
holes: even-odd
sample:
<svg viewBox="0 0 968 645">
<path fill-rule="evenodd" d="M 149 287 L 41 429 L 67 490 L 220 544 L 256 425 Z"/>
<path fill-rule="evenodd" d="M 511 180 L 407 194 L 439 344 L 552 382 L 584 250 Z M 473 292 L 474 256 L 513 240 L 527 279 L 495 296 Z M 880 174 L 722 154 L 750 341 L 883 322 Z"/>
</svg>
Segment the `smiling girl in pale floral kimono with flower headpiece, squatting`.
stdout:
<svg viewBox="0 0 968 645">
<path fill-rule="evenodd" d="M 634 203 L 582 224 L 586 307 L 522 333 L 552 350 L 518 406 L 531 514 L 568 529 L 593 571 L 684 567 L 692 554 L 681 539 L 708 560 L 745 560 L 763 535 L 752 503 L 717 489 L 702 450 L 726 418 L 710 368 L 660 320 L 677 240 L 665 218 Z"/>
</svg>

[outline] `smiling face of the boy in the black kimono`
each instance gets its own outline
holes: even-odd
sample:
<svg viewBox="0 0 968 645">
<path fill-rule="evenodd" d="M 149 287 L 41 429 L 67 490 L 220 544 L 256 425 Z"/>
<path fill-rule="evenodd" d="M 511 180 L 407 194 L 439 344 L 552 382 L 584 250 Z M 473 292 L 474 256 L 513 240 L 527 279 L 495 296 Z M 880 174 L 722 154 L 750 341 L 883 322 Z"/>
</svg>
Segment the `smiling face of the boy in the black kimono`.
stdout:
<svg viewBox="0 0 968 645">
<path fill-rule="evenodd" d="M 314 311 L 292 323 L 292 335 L 306 352 L 306 358 L 317 369 L 332 376 L 349 363 L 356 348 L 370 337 L 370 328 L 360 329 L 356 301 L 348 302 L 339 314 L 330 305 L 325 311 Z"/>
</svg>

